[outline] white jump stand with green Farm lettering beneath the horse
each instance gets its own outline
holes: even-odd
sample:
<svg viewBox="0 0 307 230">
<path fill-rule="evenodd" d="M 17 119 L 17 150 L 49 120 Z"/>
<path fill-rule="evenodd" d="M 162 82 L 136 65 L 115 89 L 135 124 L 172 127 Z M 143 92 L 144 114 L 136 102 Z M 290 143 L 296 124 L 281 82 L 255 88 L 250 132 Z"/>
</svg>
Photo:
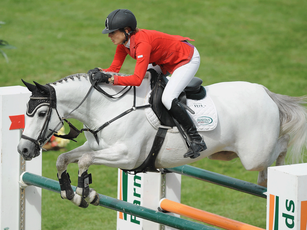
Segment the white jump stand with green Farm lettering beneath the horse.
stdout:
<svg viewBox="0 0 307 230">
<path fill-rule="evenodd" d="M 176 173 L 138 173 L 126 174 L 118 171 L 117 198 L 158 211 L 161 198 L 180 202 L 181 175 Z M 180 215 L 170 213 L 180 217 Z M 173 230 L 149 220 L 117 212 L 117 230 Z"/>
</svg>

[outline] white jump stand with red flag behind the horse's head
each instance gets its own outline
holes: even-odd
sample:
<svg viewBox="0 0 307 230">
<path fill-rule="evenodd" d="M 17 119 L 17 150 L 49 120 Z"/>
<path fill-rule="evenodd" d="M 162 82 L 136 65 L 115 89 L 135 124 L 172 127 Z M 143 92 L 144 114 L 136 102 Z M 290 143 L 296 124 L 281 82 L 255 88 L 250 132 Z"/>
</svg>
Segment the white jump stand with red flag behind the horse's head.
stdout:
<svg viewBox="0 0 307 230">
<path fill-rule="evenodd" d="M 17 152 L 30 95 L 26 87 L 0 87 L 1 230 L 41 229 L 41 188 L 18 184 L 23 171 L 41 175 L 41 155 L 25 162 Z"/>
</svg>

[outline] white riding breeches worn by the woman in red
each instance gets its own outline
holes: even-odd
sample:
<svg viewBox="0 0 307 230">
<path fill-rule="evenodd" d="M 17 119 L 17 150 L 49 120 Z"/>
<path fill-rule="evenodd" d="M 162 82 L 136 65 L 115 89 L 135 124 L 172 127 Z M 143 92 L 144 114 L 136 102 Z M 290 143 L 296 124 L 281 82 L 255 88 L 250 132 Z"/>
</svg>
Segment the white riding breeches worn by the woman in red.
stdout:
<svg viewBox="0 0 307 230">
<path fill-rule="evenodd" d="M 162 94 L 162 103 L 166 109 L 170 109 L 172 101 L 178 98 L 179 94 L 185 89 L 185 86 L 192 80 L 200 65 L 200 55 L 194 47 L 192 59 L 185 65 L 178 67 L 167 82 Z M 161 68 L 149 64 L 148 69 L 153 68 L 157 72 L 162 73 Z"/>
</svg>

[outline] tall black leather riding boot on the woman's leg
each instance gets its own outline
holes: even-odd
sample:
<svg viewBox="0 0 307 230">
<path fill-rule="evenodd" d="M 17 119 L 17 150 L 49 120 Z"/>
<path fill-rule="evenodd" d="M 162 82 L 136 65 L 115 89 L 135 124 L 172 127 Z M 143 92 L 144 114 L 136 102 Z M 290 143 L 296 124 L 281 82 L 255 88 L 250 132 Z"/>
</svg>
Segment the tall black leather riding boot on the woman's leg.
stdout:
<svg viewBox="0 0 307 230">
<path fill-rule="evenodd" d="M 194 148 L 196 151 L 196 155 L 190 146 L 188 151 L 183 155 L 183 157 L 191 157 L 191 158 L 196 158 L 200 154 L 198 154 L 200 151 L 203 151 L 207 149 L 207 146 L 203 140 L 203 138 L 198 134 L 197 128 L 192 121 L 190 115 L 186 111 L 186 109 L 180 105 L 178 102 L 178 99 L 175 98 L 172 102 L 172 106 L 169 109 L 169 112 L 172 113 L 173 117 L 181 124 L 183 129 L 186 131 L 188 134 L 190 141 L 191 141 L 191 146 Z"/>
</svg>

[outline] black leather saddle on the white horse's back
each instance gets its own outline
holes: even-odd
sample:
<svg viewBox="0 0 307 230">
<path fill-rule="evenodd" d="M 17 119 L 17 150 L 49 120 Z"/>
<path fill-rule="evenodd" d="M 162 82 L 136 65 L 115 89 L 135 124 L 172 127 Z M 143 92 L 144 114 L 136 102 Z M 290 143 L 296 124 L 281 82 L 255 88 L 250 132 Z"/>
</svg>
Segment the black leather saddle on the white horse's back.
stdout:
<svg viewBox="0 0 307 230">
<path fill-rule="evenodd" d="M 153 112 L 157 115 L 158 119 L 161 122 L 161 125 L 165 126 L 175 126 L 173 117 L 171 113 L 165 108 L 162 104 L 162 94 L 163 90 L 169 81 L 165 75 L 157 73 L 154 69 L 147 70 L 151 73 L 150 86 L 151 93 L 149 98 L 149 103 Z M 193 77 L 191 82 L 185 87 L 178 97 L 179 102 L 184 106 L 187 104 L 188 99 L 200 100 L 206 96 L 206 90 L 204 86 L 201 86 L 203 81 L 200 78 Z M 188 108 L 187 108 L 188 109 Z"/>
</svg>

